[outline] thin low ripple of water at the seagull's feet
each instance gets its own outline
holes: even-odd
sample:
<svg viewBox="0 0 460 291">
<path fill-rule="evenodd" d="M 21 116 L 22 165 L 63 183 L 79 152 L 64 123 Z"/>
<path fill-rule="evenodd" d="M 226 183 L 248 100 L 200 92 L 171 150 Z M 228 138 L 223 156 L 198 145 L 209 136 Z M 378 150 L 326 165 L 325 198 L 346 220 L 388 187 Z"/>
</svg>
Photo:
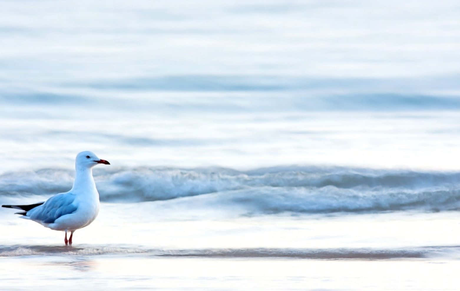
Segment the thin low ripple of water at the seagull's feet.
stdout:
<svg viewBox="0 0 460 291">
<path fill-rule="evenodd" d="M 337 248 L 337 249 L 148 249 L 131 245 L 81 245 L 79 247 L 46 245 L 0 245 L 0 257 L 15 256 L 97 256 L 136 255 L 167 257 L 211 257 L 211 258 L 297 258 L 297 259 L 417 259 L 452 256 L 459 254 L 459 246 L 425 246 L 395 249 Z"/>
</svg>

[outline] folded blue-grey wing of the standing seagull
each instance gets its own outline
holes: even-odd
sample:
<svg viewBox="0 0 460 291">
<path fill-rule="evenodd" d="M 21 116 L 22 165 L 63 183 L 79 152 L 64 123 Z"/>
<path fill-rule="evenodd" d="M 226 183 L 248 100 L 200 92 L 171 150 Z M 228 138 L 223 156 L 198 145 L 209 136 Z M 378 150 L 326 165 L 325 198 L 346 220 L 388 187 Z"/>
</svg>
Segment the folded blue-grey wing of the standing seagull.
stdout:
<svg viewBox="0 0 460 291">
<path fill-rule="evenodd" d="M 73 204 L 74 201 L 74 194 L 60 193 L 46 200 L 44 204 L 29 210 L 27 216 L 33 221 L 53 223 L 59 217 L 77 210 L 78 207 Z"/>
</svg>

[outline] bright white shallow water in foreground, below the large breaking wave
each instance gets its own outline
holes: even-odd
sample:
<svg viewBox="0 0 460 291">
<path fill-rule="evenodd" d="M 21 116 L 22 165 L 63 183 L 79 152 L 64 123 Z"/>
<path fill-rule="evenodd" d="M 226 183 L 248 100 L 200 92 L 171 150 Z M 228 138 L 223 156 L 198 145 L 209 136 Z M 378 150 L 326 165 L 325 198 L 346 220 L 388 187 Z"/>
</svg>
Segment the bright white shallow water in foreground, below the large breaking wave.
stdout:
<svg viewBox="0 0 460 291">
<path fill-rule="evenodd" d="M 454 212 L 143 221 L 143 212 L 131 211 L 103 204 L 72 247 L 63 246 L 60 232 L 2 215 L 9 237 L 0 245 L 2 288 L 456 288 Z"/>
</svg>

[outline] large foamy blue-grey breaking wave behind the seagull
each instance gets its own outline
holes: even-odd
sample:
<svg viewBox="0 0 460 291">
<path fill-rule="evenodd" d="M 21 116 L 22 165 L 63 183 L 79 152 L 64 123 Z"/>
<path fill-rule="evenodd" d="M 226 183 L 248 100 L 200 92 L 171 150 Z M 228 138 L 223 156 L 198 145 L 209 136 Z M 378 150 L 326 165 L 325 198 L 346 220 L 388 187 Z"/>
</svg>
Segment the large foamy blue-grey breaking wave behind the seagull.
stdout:
<svg viewBox="0 0 460 291">
<path fill-rule="evenodd" d="M 66 192 L 73 171 L 39 169 L 0 175 L 0 198 Z M 460 209 L 460 173 L 341 167 L 225 168 L 140 167 L 97 169 L 103 202 L 168 200 L 190 207 L 238 208 L 257 213 L 332 213 Z M 5 202 L 6 203 L 6 202 Z"/>
</svg>

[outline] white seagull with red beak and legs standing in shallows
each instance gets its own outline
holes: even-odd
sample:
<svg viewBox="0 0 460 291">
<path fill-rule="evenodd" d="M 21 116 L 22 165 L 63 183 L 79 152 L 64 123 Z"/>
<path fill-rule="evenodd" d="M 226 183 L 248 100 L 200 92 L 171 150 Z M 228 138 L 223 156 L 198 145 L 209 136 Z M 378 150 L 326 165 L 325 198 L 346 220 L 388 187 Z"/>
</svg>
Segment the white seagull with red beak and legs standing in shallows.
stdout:
<svg viewBox="0 0 460 291">
<path fill-rule="evenodd" d="M 65 232 L 65 245 L 72 245 L 75 230 L 89 225 L 99 213 L 99 193 L 92 177 L 92 167 L 110 163 L 92 151 L 82 151 L 75 158 L 75 180 L 72 189 L 59 193 L 45 202 L 30 205 L 2 205 L 23 210 L 21 218 L 36 221 L 44 227 Z M 70 238 L 67 239 L 67 232 Z"/>
</svg>

